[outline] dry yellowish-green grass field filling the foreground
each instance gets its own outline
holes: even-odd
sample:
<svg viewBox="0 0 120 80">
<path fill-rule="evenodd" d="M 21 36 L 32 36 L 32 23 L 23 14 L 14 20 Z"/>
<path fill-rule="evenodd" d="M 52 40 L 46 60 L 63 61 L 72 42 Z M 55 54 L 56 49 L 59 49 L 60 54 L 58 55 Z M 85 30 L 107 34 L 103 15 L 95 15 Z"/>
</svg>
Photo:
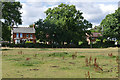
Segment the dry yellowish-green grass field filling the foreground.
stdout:
<svg viewBox="0 0 120 80">
<path fill-rule="evenodd" d="M 75 52 L 77 57 L 72 59 Z M 91 66 L 86 66 L 85 60 L 90 56 Z M 86 78 L 89 71 L 90 78 L 117 78 L 116 56 L 118 48 L 2 48 L 2 77 Z M 95 58 L 103 71 L 94 68 Z"/>
</svg>

